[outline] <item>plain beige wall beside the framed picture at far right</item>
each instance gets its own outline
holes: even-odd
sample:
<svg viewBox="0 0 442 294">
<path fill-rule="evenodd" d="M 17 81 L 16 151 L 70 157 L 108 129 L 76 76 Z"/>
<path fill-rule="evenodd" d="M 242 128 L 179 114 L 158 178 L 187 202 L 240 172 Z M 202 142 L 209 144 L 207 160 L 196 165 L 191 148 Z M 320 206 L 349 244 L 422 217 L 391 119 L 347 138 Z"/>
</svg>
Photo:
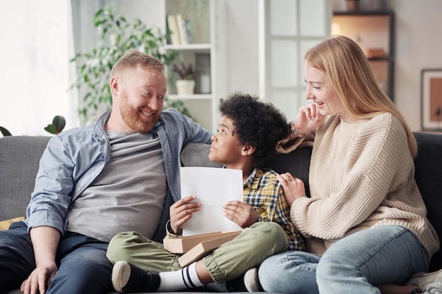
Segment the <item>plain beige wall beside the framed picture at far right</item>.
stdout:
<svg viewBox="0 0 442 294">
<path fill-rule="evenodd" d="M 390 0 L 395 11 L 395 104 L 412 130 L 421 129 L 423 68 L 442 68 L 442 1 Z"/>
</svg>

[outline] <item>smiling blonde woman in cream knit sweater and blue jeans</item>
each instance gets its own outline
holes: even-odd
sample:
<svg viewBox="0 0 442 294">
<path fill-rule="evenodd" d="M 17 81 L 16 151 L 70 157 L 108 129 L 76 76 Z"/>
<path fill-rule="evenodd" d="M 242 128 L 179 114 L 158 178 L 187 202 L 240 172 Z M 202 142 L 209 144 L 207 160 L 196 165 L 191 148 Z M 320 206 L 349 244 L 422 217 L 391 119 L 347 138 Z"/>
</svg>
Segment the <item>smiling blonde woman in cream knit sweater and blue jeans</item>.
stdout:
<svg viewBox="0 0 442 294">
<path fill-rule="evenodd" d="M 313 103 L 300 107 L 291 139 L 314 137 L 311 197 L 290 173 L 279 180 L 308 252 L 266 259 L 261 285 L 297 294 L 422 293 L 401 286 L 439 248 L 414 180 L 412 132 L 351 39 L 331 37 L 305 58 Z"/>
</svg>

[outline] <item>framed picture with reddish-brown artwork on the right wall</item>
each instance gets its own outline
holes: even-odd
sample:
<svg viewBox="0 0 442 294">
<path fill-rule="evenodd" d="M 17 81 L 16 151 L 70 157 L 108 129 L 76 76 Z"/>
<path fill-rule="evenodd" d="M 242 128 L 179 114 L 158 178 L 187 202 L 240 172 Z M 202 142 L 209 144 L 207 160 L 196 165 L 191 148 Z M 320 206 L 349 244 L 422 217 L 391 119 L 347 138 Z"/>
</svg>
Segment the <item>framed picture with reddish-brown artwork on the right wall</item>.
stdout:
<svg viewBox="0 0 442 294">
<path fill-rule="evenodd" d="M 442 68 L 421 72 L 422 130 L 442 130 Z"/>
</svg>

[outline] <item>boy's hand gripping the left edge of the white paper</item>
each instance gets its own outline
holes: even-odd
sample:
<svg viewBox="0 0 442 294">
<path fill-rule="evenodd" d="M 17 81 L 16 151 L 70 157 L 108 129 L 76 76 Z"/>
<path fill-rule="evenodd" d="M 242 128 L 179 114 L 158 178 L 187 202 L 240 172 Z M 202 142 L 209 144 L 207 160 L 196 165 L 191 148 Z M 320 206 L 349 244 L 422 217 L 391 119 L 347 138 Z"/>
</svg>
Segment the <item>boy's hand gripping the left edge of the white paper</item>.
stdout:
<svg viewBox="0 0 442 294">
<path fill-rule="evenodd" d="M 170 207 L 170 228 L 172 228 L 172 233 L 181 235 L 184 223 L 191 219 L 193 212 L 198 212 L 201 209 L 201 203 L 190 203 L 193 200 L 196 200 L 195 196 L 184 197 Z"/>
</svg>

